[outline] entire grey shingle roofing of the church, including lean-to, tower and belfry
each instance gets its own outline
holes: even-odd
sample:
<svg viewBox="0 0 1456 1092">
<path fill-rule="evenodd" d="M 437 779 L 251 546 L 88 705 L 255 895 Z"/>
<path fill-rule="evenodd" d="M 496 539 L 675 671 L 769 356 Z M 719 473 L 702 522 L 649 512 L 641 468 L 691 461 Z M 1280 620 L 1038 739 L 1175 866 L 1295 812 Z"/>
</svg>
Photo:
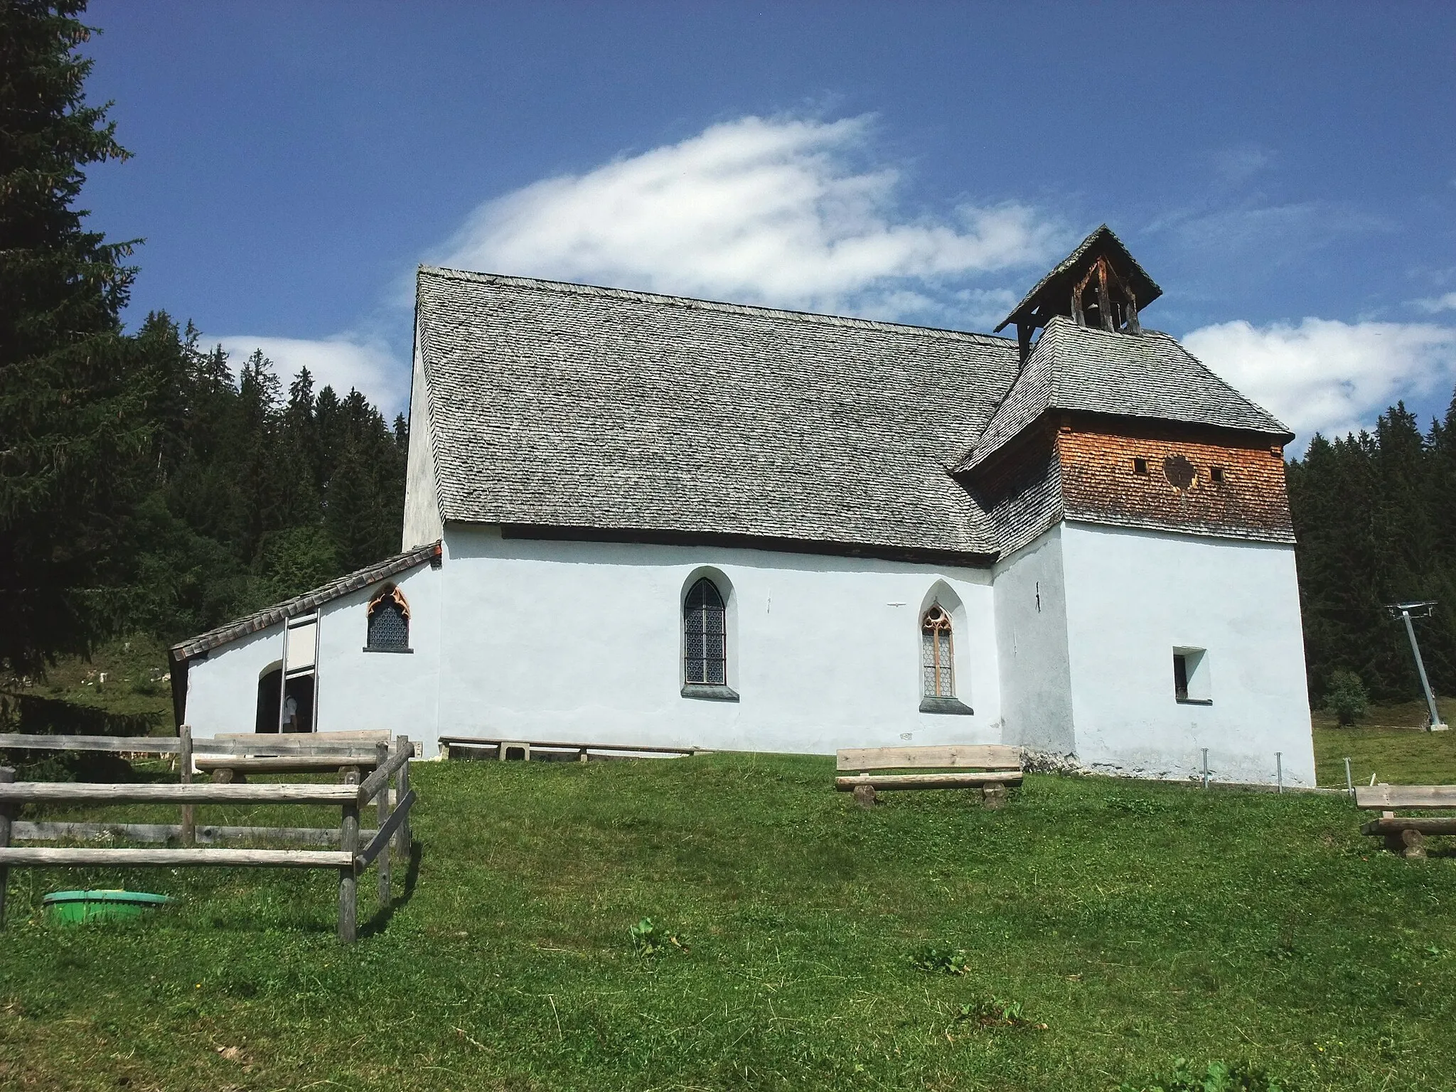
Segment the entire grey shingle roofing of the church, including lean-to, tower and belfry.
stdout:
<svg viewBox="0 0 1456 1092">
<path fill-rule="evenodd" d="M 1028 300 L 1112 243 L 1125 253 L 1093 232 Z M 1060 511 L 1056 460 L 1022 467 L 994 513 L 954 475 L 1048 411 L 1293 438 L 1169 335 L 1063 316 L 1024 367 L 1018 342 L 986 333 L 431 266 L 416 316 L 424 405 L 412 414 L 430 437 L 440 518 L 520 534 L 709 534 L 987 563 Z M 172 657 L 440 556 L 440 542 L 399 553 Z"/>
</svg>

